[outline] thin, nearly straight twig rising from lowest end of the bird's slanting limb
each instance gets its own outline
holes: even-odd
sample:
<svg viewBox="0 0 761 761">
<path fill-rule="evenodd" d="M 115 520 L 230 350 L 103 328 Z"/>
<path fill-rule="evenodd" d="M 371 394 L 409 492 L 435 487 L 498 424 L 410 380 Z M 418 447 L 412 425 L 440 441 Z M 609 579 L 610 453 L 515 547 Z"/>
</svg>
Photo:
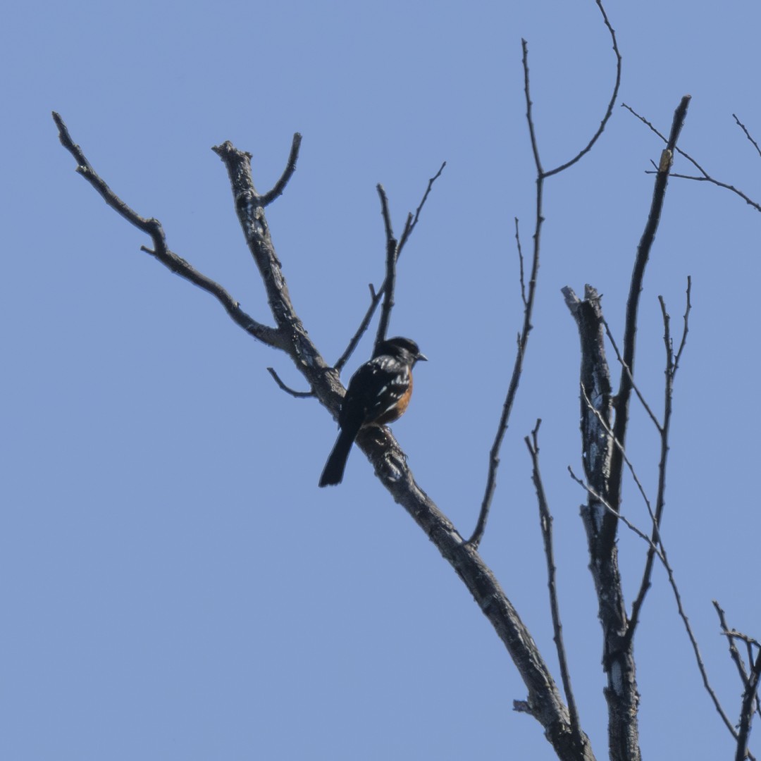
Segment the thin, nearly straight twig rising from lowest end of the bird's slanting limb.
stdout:
<svg viewBox="0 0 761 761">
<path fill-rule="evenodd" d="M 558 662 L 560 665 L 560 677 L 565 691 L 565 699 L 568 702 L 568 714 L 571 717 L 571 731 L 576 736 L 576 743 L 581 742 L 581 721 L 579 720 L 578 708 L 571 686 L 571 673 L 568 670 L 568 657 L 565 654 L 565 645 L 563 644 L 562 623 L 560 622 L 560 607 L 558 603 L 558 591 L 555 581 L 555 553 L 552 549 L 552 514 L 549 512 L 547 497 L 544 492 L 542 475 L 539 470 L 539 426 L 541 420 L 537 420 L 537 425 L 531 431 L 530 437 L 524 438 L 531 456 L 532 479 L 534 488 L 537 490 L 537 502 L 539 504 L 539 521 L 542 529 L 542 539 L 544 541 L 544 556 L 547 560 L 547 587 L 549 588 L 549 610 L 552 614 L 552 629 L 555 632 L 554 641 L 558 653 Z"/>
</svg>

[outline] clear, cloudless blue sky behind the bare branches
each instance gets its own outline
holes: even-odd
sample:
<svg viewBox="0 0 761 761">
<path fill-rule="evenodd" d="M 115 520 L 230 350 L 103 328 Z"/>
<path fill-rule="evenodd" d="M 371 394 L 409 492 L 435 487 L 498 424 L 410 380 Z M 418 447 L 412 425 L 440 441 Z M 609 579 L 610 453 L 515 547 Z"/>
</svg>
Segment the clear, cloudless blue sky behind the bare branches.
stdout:
<svg viewBox="0 0 761 761">
<path fill-rule="evenodd" d="M 608 8 L 625 101 L 761 198 L 761 10 L 643 0 Z M 383 275 L 375 183 L 396 229 L 435 186 L 400 261 L 392 333 L 430 361 L 394 431 L 423 489 L 469 534 L 514 355 L 521 301 L 514 217 L 533 226 L 521 37 L 546 167 L 571 158 L 610 97 L 594 2 L 72 2 L 5 12 L 5 278 L 0 532 L 4 758 L 551 759 L 512 711 L 524 686 L 488 622 L 354 452 L 317 489 L 335 426 L 293 400 L 288 361 L 139 247 L 60 147 L 59 111 L 95 169 L 164 224 L 170 247 L 254 317 L 266 300 L 237 227 L 231 139 L 269 209 L 310 335 L 342 352 Z M 545 561 L 523 443 L 537 417 L 555 518 L 566 644 L 581 720 L 606 756 L 600 626 L 578 517 L 578 338 L 560 288 L 590 282 L 620 335 L 661 144 L 616 107 L 594 151 L 546 186 L 535 330 L 482 554 L 556 670 Z M 677 170 L 686 169 L 677 163 Z M 711 600 L 761 636 L 756 330 L 761 218 L 730 193 L 672 180 L 645 278 L 638 384 L 662 406 L 657 296 L 678 326 L 664 542 L 719 696 L 740 684 Z M 368 355 L 365 340 L 355 365 Z M 453 352 L 465 365 L 452 372 Z M 479 379 L 463 395 L 463 377 Z M 347 376 L 348 377 L 348 373 Z M 452 400 L 456 400 L 451 412 Z M 635 408 L 629 454 L 653 495 L 658 441 Z M 645 525 L 631 484 L 624 511 Z M 619 539 L 627 600 L 645 547 Z M 702 689 L 660 568 L 638 632 L 648 757 L 733 752 Z M 758 751 L 756 750 L 756 753 Z"/>
</svg>

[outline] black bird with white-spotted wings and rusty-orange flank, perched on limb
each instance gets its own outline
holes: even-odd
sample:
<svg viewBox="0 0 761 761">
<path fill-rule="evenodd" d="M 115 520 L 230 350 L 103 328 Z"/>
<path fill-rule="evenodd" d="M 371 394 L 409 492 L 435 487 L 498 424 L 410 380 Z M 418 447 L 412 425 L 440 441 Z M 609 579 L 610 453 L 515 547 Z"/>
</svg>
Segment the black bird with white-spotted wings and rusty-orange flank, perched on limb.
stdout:
<svg viewBox="0 0 761 761">
<path fill-rule="evenodd" d="M 341 482 L 349 451 L 363 425 L 383 425 L 403 416 L 412 396 L 412 368 L 425 359 L 416 342 L 390 338 L 380 342 L 373 358 L 352 375 L 338 416 L 341 432 L 325 463 L 320 486 Z"/>
</svg>

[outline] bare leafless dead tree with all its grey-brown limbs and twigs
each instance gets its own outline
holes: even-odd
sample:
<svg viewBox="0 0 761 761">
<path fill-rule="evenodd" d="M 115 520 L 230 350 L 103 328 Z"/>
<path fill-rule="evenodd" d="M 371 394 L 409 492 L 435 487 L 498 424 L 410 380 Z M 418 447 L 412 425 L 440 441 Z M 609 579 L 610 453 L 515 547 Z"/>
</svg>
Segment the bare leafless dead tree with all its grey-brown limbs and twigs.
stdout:
<svg viewBox="0 0 761 761">
<path fill-rule="evenodd" d="M 489 619 L 501 642 L 505 645 L 512 661 L 521 674 L 527 689 L 525 699 L 516 701 L 517 711 L 527 713 L 540 722 L 544 734 L 552 744 L 557 756 L 565 761 L 591 761 L 594 753 L 591 742 L 581 725 L 578 708 L 572 690 L 572 680 L 568 671 L 568 660 L 562 640 L 562 625 L 559 613 L 559 602 L 556 595 L 556 569 L 552 550 L 552 517 L 547 504 L 542 476 L 540 474 L 540 422 L 526 444 L 533 466 L 533 481 L 537 490 L 540 508 L 540 522 L 543 530 L 548 581 L 550 591 L 550 609 L 555 632 L 557 657 L 560 666 L 561 687 L 556 683 L 543 654 L 540 653 L 533 638 L 521 621 L 521 618 L 511 603 L 507 592 L 498 582 L 492 570 L 479 554 L 479 543 L 484 536 L 489 519 L 489 509 L 497 485 L 499 452 L 508 420 L 511 415 L 514 400 L 517 396 L 521 372 L 524 367 L 527 343 L 532 329 L 532 314 L 538 285 L 538 270 L 541 249 L 541 232 L 544 221 L 543 191 L 545 183 L 556 174 L 570 169 L 594 148 L 603 130 L 609 122 L 619 91 L 621 75 L 621 56 L 616 43 L 616 34 L 608 21 L 606 12 L 600 0 L 597 0 L 605 30 L 610 35 L 615 58 L 613 75 L 613 91 L 607 110 L 600 126 L 591 136 L 587 145 L 578 151 L 565 163 L 547 170 L 543 167 L 540 157 L 540 145 L 534 129 L 532 102 L 530 97 L 530 76 L 528 65 L 528 46 L 523 42 L 524 93 L 527 108 L 527 126 L 530 135 L 530 145 L 537 171 L 536 183 L 536 212 L 533 221 L 533 238 L 531 252 L 527 256 L 524 269 L 524 254 L 520 236 L 517 231 L 516 239 L 518 254 L 521 261 L 521 293 L 524 304 L 524 319 L 518 334 L 517 351 L 514 359 L 511 377 L 505 403 L 498 421 L 495 440 L 489 455 L 489 472 L 482 505 L 476 520 L 476 525 L 470 534 L 463 533 L 444 515 L 435 501 L 423 491 L 412 476 L 406 464 L 406 457 L 391 431 L 385 427 L 368 427 L 358 435 L 358 447 L 365 453 L 374 466 L 377 478 L 390 493 L 394 501 L 399 503 L 416 521 L 425 534 L 454 568 L 454 571 L 473 595 L 474 600 Z M 685 349 L 689 310 L 690 287 L 689 279 L 686 288 L 686 309 L 683 317 L 683 328 L 677 342 L 672 338 L 670 317 L 666 305 L 661 299 L 661 309 L 664 322 L 665 387 L 664 406 L 659 417 L 644 396 L 639 392 L 635 382 L 635 336 L 638 324 L 638 306 L 642 291 L 642 279 L 648 260 L 654 246 L 654 236 L 661 218 L 664 198 L 670 177 L 674 175 L 671 167 L 674 157 L 679 154 L 677 145 L 680 130 L 686 118 L 689 107 L 689 96 L 680 101 L 671 124 L 668 135 L 661 135 L 665 145 L 661 160 L 654 169 L 654 189 L 651 209 L 645 220 L 642 238 L 638 244 L 633 264 L 632 278 L 629 288 L 629 299 L 626 303 L 626 322 L 622 337 L 621 349 L 613 339 L 607 327 L 600 298 L 597 291 L 587 285 L 584 297 L 579 298 L 571 288 L 564 289 L 565 302 L 577 326 L 581 339 L 581 450 L 584 462 L 583 476 L 572 476 L 584 488 L 587 498 L 582 506 L 581 515 L 587 533 L 587 549 L 591 559 L 590 568 L 594 588 L 598 600 L 598 616 L 603 633 L 603 670 L 607 678 L 605 696 L 608 705 L 608 737 L 609 754 L 616 761 L 635 761 L 640 758 L 638 739 L 638 692 L 633 645 L 638 623 L 642 618 L 642 610 L 648 588 L 651 585 L 651 574 L 656 563 L 661 563 L 667 569 L 673 591 L 677 599 L 677 607 L 683 615 L 683 620 L 689 632 L 690 641 L 696 651 L 699 667 L 705 686 L 712 695 L 715 705 L 721 714 L 728 730 L 734 737 L 737 747 L 737 758 L 746 757 L 747 738 L 750 732 L 750 720 L 756 711 L 756 693 L 761 672 L 761 648 L 758 643 L 730 629 L 724 621 L 724 614 L 718 607 L 721 627 L 731 647 L 731 654 L 740 678 L 743 680 L 743 702 L 740 708 L 739 728 L 735 728 L 726 713 L 718 704 L 710 686 L 702 662 L 699 658 L 696 640 L 689 629 L 689 622 L 684 615 L 678 587 L 674 581 L 673 571 L 664 549 L 660 527 L 664 511 L 664 490 L 667 476 L 667 454 L 669 450 L 669 426 L 673 396 L 673 380 L 679 367 L 680 358 Z M 224 142 L 213 148 L 228 170 L 234 207 L 237 218 L 244 232 L 256 267 L 260 272 L 269 308 L 272 312 L 272 324 L 263 324 L 254 320 L 240 308 L 236 299 L 217 282 L 212 281 L 193 268 L 185 259 L 170 250 L 164 228 L 154 218 L 146 218 L 135 212 L 119 196 L 114 193 L 107 183 L 94 170 L 84 152 L 69 135 L 62 118 L 53 114 L 59 129 L 62 145 L 72 154 L 77 164 L 77 171 L 84 180 L 100 193 L 107 205 L 118 212 L 127 221 L 145 232 L 151 239 L 150 246 L 142 247 L 145 253 L 151 254 L 159 262 L 173 272 L 193 282 L 200 288 L 215 296 L 232 320 L 254 338 L 274 349 L 285 352 L 295 368 L 306 381 L 308 390 L 296 391 L 285 386 L 282 380 L 269 368 L 279 386 L 296 396 L 311 396 L 325 407 L 334 418 L 338 416 L 344 394 L 340 380 L 340 371 L 354 351 L 359 339 L 368 330 L 377 309 L 380 308 L 380 319 L 377 328 L 376 342 L 386 336 L 387 325 L 393 309 L 394 285 L 396 280 L 396 264 L 405 244 L 419 222 L 428 194 L 435 181 L 444 169 L 442 165 L 438 173 L 428 182 L 428 188 L 415 214 L 410 214 L 405 221 L 399 237 L 393 231 L 386 194 L 382 186 L 378 186 L 380 205 L 383 212 L 386 234 L 386 274 L 384 282 L 378 288 L 371 288 L 371 300 L 365 319 L 361 321 L 354 336 L 348 340 L 345 352 L 331 365 L 321 355 L 319 349 L 311 341 L 304 323 L 298 317 L 295 304 L 288 293 L 288 287 L 282 274 L 282 268 L 269 233 L 269 224 L 265 211 L 267 206 L 278 199 L 285 191 L 289 180 L 294 174 L 298 153 L 301 145 L 301 135 L 295 135 L 282 177 L 275 186 L 266 193 L 256 190 L 253 183 L 251 159 L 252 155 L 240 151 L 230 142 Z M 739 121 L 738 121 L 739 124 Z M 744 128 L 743 128 L 744 130 Z M 750 139 L 750 134 L 746 132 Z M 689 158 L 689 157 L 687 157 Z M 692 161 L 691 159 L 689 159 Z M 693 164 L 695 162 L 693 161 Z M 700 172 L 702 170 L 695 164 Z M 705 175 L 705 173 L 702 173 Z M 693 177 L 705 179 L 708 177 Z M 712 180 L 714 181 L 714 180 Z M 722 183 L 718 183 L 722 184 Z M 726 184 L 724 187 L 738 192 Z M 751 202 L 750 199 L 747 199 Z M 751 202 L 752 203 L 752 202 Z M 616 363 L 611 367 L 606 352 L 606 338 L 616 354 Z M 614 389 L 611 377 L 617 374 L 617 386 Z M 639 483 L 632 463 L 626 454 L 626 434 L 629 425 L 629 409 L 632 396 L 637 403 L 642 404 L 653 425 L 661 437 L 661 456 L 659 463 L 658 494 L 648 509 L 651 524 L 647 528 L 637 527 L 621 514 L 622 483 L 626 471 L 634 475 L 635 483 Z M 431 489 L 432 491 L 433 489 Z M 644 491 L 642 496 L 645 498 Z M 619 529 L 625 526 L 634 530 L 643 542 L 645 560 L 642 581 L 634 602 L 629 607 L 622 592 L 622 580 L 619 573 L 616 538 Z M 747 664 L 740 657 L 737 642 L 742 642 L 747 648 Z M 565 694 L 565 698 L 563 694 Z M 748 756 L 752 757 L 752 756 Z"/>
</svg>

